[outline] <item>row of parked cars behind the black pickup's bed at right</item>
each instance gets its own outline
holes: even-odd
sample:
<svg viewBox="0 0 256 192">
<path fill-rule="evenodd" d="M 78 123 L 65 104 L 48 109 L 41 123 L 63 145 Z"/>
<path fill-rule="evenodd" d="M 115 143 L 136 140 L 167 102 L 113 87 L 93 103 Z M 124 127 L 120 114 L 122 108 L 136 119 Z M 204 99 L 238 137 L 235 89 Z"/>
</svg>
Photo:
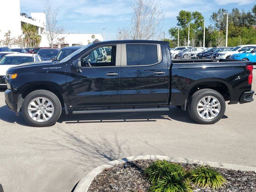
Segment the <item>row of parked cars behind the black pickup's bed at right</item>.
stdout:
<svg viewBox="0 0 256 192">
<path fill-rule="evenodd" d="M 256 62 L 256 45 L 236 47 L 175 47 L 170 49 L 172 58 L 236 59 Z"/>
</svg>

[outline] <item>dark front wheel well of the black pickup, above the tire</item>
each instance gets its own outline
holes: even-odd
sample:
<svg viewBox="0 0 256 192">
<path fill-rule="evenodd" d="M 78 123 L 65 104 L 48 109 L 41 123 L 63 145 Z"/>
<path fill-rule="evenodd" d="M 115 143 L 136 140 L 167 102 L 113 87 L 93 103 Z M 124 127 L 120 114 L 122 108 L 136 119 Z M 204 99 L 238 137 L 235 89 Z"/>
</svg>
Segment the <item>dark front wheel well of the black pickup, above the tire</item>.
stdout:
<svg viewBox="0 0 256 192">
<path fill-rule="evenodd" d="M 50 92 L 54 93 L 59 98 L 61 106 L 64 107 L 64 101 L 63 101 L 63 98 L 62 98 L 62 94 L 60 93 L 58 88 L 56 88 L 55 86 L 52 86 L 52 85 L 29 86 L 27 89 L 22 90 L 22 93 L 21 93 L 22 98 L 24 99 L 28 94 L 30 94 L 31 92 L 33 92 L 35 90 L 47 90 L 47 91 L 50 91 Z"/>
</svg>

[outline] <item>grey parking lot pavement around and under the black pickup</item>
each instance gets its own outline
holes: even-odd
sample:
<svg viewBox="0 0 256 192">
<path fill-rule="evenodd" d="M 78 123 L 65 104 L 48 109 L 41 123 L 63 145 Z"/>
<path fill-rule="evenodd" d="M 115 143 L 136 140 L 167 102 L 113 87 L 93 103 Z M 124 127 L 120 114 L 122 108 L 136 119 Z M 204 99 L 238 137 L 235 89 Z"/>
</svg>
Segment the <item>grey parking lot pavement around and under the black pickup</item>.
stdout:
<svg viewBox="0 0 256 192">
<path fill-rule="evenodd" d="M 256 75 L 253 83 L 256 90 Z M 256 166 L 255 114 L 256 101 L 227 105 L 214 125 L 196 124 L 175 107 L 170 112 L 62 113 L 54 126 L 34 128 L 6 108 L 1 90 L 0 184 L 4 192 L 70 192 L 96 166 L 141 154 Z"/>
</svg>

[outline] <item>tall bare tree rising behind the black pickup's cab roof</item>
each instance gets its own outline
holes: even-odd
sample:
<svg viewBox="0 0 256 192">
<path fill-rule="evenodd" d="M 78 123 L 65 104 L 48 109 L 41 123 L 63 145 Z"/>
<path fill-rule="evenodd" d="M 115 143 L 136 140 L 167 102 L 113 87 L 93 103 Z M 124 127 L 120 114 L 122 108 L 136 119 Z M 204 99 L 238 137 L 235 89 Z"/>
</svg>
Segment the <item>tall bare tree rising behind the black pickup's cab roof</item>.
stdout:
<svg viewBox="0 0 256 192">
<path fill-rule="evenodd" d="M 128 28 L 117 30 L 117 39 L 159 39 L 162 35 L 163 10 L 154 0 L 134 0 Z"/>
</svg>

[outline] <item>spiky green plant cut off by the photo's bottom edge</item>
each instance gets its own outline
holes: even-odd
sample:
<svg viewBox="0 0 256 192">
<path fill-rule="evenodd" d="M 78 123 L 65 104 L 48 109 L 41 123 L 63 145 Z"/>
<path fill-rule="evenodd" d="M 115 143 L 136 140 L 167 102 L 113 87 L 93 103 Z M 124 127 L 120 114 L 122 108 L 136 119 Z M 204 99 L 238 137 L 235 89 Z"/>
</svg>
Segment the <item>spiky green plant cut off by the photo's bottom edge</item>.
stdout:
<svg viewBox="0 0 256 192">
<path fill-rule="evenodd" d="M 168 175 L 155 182 L 148 192 L 193 192 L 193 190 L 189 182 Z"/>
</svg>

